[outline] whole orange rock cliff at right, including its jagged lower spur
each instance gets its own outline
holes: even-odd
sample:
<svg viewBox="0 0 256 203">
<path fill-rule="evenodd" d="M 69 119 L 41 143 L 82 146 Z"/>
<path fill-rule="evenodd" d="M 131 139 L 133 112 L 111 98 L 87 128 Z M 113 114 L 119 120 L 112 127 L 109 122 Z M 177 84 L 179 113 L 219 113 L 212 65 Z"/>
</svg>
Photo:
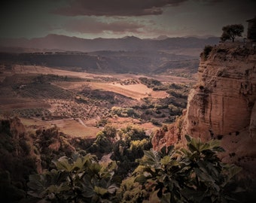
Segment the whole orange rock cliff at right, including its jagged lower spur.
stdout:
<svg viewBox="0 0 256 203">
<path fill-rule="evenodd" d="M 191 89 L 182 117 L 181 134 L 173 130 L 154 136 L 154 148 L 163 139 L 167 145 L 184 135 L 221 140 L 226 153 L 221 158 L 248 171 L 256 165 L 256 49 L 253 44 L 224 43 L 202 53 L 198 83 Z M 180 126 L 180 125 L 179 125 Z M 172 135 L 170 135 L 172 134 Z M 163 143 L 163 141 L 162 141 Z M 162 144 L 163 146 L 163 144 Z"/>
</svg>

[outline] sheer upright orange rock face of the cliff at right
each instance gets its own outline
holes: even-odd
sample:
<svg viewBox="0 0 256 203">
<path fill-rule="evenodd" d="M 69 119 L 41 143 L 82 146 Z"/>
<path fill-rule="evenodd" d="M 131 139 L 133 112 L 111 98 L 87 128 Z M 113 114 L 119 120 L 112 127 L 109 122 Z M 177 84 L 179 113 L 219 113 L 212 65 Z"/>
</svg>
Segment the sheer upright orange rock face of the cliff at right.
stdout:
<svg viewBox="0 0 256 203">
<path fill-rule="evenodd" d="M 187 101 L 183 134 L 209 140 L 248 129 L 254 137 L 255 52 L 242 44 L 220 44 L 201 60 L 199 83 Z"/>
</svg>

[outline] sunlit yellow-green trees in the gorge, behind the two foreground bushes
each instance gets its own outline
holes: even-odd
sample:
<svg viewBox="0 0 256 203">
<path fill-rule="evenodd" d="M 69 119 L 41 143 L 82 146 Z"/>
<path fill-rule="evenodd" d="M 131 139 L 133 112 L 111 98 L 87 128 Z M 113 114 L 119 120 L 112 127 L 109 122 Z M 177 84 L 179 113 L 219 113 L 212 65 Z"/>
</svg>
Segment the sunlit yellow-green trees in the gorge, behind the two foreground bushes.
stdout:
<svg viewBox="0 0 256 203">
<path fill-rule="evenodd" d="M 87 148 L 87 152 L 94 153 L 99 158 L 110 153 L 111 159 L 117 162 L 117 174 L 126 177 L 139 164 L 136 159 L 142 158 L 143 150 L 151 147 L 151 137 L 143 129 L 136 126 L 115 129 L 107 124 L 98 132 L 96 141 Z"/>
</svg>

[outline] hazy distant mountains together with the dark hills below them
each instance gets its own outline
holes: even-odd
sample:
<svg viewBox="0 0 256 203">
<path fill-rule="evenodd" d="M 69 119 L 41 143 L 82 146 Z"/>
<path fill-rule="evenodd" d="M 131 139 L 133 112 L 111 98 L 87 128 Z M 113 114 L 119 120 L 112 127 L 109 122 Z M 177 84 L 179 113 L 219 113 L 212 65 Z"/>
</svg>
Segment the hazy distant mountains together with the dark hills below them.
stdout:
<svg viewBox="0 0 256 203">
<path fill-rule="evenodd" d="M 64 35 L 0 39 L 0 62 L 102 73 L 175 74 L 173 69 L 178 68 L 178 72 L 194 74 L 203 47 L 218 41 L 215 37 L 84 39 Z"/>
</svg>

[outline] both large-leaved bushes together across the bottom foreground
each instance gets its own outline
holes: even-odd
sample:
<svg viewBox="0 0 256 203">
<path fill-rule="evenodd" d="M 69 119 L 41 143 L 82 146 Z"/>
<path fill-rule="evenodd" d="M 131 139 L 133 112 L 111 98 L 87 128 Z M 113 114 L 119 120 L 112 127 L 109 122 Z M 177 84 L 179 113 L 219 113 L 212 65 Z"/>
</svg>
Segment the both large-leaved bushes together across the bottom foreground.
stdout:
<svg viewBox="0 0 256 203">
<path fill-rule="evenodd" d="M 29 177 L 30 202 L 236 202 L 244 191 L 235 180 L 241 168 L 221 162 L 218 141 L 186 138 L 185 148 L 144 150 L 139 166 L 123 180 L 116 162 L 102 163 L 90 154 L 62 156 L 52 170 Z"/>
</svg>

